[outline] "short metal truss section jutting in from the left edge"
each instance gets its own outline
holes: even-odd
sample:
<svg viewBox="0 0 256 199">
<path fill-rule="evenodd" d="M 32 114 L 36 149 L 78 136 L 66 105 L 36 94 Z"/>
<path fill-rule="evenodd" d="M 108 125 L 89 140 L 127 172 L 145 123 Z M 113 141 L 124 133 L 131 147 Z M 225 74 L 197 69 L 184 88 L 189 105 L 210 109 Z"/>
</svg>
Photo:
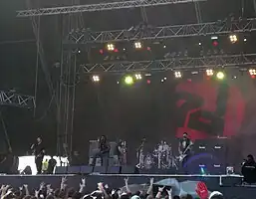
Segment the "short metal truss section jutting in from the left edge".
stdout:
<svg viewBox="0 0 256 199">
<path fill-rule="evenodd" d="M 35 98 L 31 96 L 19 95 L 14 92 L 0 91 L 0 105 L 13 105 L 19 107 L 35 107 Z"/>
</svg>

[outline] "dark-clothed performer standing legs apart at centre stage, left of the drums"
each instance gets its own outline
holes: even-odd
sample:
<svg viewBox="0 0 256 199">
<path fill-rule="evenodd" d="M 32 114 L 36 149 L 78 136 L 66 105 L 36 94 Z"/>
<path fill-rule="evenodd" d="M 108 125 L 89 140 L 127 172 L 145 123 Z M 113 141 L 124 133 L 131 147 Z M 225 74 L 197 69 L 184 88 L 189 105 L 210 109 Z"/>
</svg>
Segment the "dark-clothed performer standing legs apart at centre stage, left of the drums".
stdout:
<svg viewBox="0 0 256 199">
<path fill-rule="evenodd" d="M 108 158 L 111 147 L 107 141 L 107 137 L 105 135 L 102 135 L 98 142 L 99 148 L 98 151 L 94 154 L 92 166 L 95 166 L 97 157 L 101 157 L 102 165 L 108 166 Z"/>
</svg>

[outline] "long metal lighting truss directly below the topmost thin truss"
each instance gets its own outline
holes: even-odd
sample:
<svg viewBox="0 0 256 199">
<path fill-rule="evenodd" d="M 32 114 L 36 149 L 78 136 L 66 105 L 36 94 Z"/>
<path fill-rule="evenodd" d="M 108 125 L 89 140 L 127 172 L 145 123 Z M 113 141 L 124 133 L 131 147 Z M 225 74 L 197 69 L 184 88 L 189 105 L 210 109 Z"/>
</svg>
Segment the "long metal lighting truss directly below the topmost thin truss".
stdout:
<svg viewBox="0 0 256 199">
<path fill-rule="evenodd" d="M 114 30 L 92 32 L 87 30 L 72 31 L 65 44 L 90 44 L 119 41 L 154 40 L 178 37 L 221 35 L 256 31 L 256 18 L 242 21 L 209 22 L 187 25 L 151 27 L 144 31 Z"/>
</svg>

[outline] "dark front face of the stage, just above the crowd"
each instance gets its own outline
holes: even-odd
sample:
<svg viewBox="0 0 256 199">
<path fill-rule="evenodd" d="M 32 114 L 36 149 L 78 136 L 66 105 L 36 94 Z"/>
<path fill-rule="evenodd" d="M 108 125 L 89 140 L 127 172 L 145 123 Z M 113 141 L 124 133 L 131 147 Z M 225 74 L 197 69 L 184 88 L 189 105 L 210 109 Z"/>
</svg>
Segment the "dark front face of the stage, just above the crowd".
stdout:
<svg viewBox="0 0 256 199">
<path fill-rule="evenodd" d="M 22 184 L 28 184 L 30 189 L 38 188 L 41 182 L 52 184 L 54 188 L 60 187 L 63 175 L 0 175 L 0 184 L 10 184 L 14 187 L 20 187 Z M 79 187 L 82 176 L 66 175 L 70 187 Z M 210 191 L 220 191 L 225 198 L 230 199 L 256 199 L 256 188 L 241 187 L 241 176 L 239 175 L 150 175 L 150 174 L 91 174 L 87 175 L 87 191 L 96 190 L 98 182 L 109 184 L 113 188 L 125 186 L 124 179 L 128 177 L 128 184 L 148 183 L 151 177 L 154 182 L 166 183 L 169 178 L 178 181 L 180 186 L 185 189 L 185 184 L 196 184 L 197 181 L 206 183 Z M 165 180 L 164 180 L 165 179 Z M 164 180 L 164 181 L 161 181 Z M 160 182 L 161 181 L 161 182 Z M 155 184 L 157 186 L 157 184 Z"/>
</svg>

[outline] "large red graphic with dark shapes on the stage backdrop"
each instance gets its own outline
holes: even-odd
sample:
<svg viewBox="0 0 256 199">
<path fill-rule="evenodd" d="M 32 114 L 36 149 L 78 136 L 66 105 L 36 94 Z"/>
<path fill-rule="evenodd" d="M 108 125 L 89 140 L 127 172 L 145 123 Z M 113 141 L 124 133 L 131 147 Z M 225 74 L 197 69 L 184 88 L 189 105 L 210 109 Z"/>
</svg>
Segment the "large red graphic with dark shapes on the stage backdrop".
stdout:
<svg viewBox="0 0 256 199">
<path fill-rule="evenodd" d="M 245 100 L 237 87 L 227 90 L 224 114 L 218 115 L 216 108 L 219 84 L 211 81 L 201 83 L 183 82 L 176 87 L 179 99 L 179 127 L 176 136 L 181 137 L 186 131 L 191 139 L 203 139 L 214 136 L 230 137 L 239 132 L 244 112 Z"/>
</svg>

